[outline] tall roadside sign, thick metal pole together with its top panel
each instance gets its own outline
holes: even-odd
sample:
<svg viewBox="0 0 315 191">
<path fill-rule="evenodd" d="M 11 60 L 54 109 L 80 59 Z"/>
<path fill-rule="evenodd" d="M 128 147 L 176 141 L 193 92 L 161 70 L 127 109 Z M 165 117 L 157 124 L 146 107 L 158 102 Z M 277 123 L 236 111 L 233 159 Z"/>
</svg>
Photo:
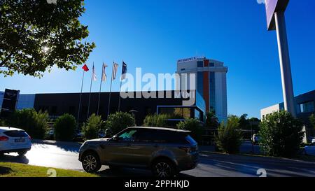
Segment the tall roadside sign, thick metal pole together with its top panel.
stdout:
<svg viewBox="0 0 315 191">
<path fill-rule="evenodd" d="M 284 17 L 288 3 L 289 0 L 266 0 L 267 29 L 268 31 L 276 29 L 284 108 L 296 117 L 288 38 L 286 36 L 286 20 Z"/>
</svg>

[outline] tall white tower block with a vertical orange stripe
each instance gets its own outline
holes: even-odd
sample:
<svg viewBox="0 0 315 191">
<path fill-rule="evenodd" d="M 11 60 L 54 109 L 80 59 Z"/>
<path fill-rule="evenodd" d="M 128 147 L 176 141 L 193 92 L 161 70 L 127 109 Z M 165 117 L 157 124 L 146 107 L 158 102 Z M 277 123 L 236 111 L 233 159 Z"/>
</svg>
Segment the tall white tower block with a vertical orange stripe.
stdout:
<svg viewBox="0 0 315 191">
<path fill-rule="evenodd" d="M 181 75 L 181 88 L 190 89 L 188 84 L 191 73 L 195 74 L 195 89 L 206 103 L 206 111 L 213 111 L 220 121 L 228 118 L 227 80 L 228 67 L 223 62 L 206 57 L 180 59 L 177 73 Z M 183 74 L 187 74 L 183 76 Z"/>
</svg>

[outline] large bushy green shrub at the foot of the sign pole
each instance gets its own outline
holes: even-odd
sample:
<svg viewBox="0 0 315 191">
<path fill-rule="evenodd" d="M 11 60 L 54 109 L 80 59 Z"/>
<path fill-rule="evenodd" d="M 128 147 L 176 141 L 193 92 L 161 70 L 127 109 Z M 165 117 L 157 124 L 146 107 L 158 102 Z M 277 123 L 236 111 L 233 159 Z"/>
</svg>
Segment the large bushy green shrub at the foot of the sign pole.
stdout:
<svg viewBox="0 0 315 191">
<path fill-rule="evenodd" d="M 272 113 L 260 123 L 260 148 L 269 156 L 292 157 L 300 150 L 302 128 L 302 122 L 290 113 Z"/>
</svg>

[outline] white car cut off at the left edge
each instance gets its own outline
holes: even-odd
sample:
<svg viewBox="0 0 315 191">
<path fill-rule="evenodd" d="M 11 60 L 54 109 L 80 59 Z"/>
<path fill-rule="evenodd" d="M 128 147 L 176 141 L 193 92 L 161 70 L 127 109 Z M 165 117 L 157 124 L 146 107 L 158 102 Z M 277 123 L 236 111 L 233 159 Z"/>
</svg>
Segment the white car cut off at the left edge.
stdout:
<svg viewBox="0 0 315 191">
<path fill-rule="evenodd" d="M 25 155 L 31 150 L 31 137 L 22 129 L 0 127 L 0 154 Z"/>
</svg>

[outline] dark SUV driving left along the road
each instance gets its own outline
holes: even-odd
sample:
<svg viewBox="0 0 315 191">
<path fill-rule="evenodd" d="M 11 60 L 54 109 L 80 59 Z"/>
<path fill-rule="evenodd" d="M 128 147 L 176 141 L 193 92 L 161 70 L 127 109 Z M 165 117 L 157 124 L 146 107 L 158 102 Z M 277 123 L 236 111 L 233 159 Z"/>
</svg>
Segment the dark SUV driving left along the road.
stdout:
<svg viewBox="0 0 315 191">
<path fill-rule="evenodd" d="M 85 141 L 79 160 L 90 173 L 109 165 L 151 169 L 155 176 L 172 177 L 197 166 L 198 145 L 189 134 L 178 129 L 130 127 L 109 139 Z"/>
</svg>

